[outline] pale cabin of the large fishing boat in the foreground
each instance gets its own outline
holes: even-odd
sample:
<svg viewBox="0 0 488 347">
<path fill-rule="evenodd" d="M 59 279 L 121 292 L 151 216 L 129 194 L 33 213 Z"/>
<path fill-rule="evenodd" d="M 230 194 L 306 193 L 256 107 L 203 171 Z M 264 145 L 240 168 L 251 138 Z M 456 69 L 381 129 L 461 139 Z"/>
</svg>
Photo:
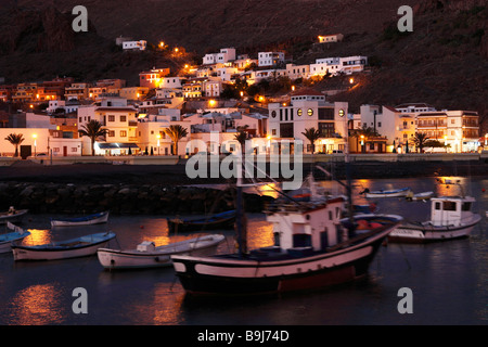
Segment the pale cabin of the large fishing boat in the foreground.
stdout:
<svg viewBox="0 0 488 347">
<path fill-rule="evenodd" d="M 267 214 L 273 224 L 275 246 L 282 249 L 325 250 L 346 240 L 341 227 L 345 201 L 332 198 L 320 204 L 280 204 Z"/>
</svg>

